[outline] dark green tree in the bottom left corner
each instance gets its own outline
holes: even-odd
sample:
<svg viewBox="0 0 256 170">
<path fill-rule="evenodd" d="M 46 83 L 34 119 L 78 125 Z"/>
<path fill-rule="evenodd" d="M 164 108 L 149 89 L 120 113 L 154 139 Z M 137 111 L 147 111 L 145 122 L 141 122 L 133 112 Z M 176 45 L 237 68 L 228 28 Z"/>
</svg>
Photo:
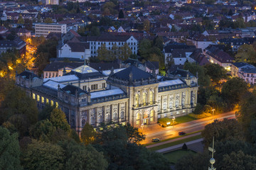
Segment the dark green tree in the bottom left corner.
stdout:
<svg viewBox="0 0 256 170">
<path fill-rule="evenodd" d="M 0 127 L 0 169 L 22 169 L 20 154 L 18 134 L 11 135 L 9 130 Z"/>
</svg>

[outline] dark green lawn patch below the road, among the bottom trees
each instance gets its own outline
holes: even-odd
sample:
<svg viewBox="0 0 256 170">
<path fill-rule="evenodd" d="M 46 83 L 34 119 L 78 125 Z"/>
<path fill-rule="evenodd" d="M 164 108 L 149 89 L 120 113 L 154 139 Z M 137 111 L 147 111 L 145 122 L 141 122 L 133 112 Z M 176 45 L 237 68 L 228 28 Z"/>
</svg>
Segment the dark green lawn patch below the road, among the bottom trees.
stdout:
<svg viewBox="0 0 256 170">
<path fill-rule="evenodd" d="M 187 156 L 188 154 L 196 154 L 196 152 L 193 152 L 191 150 L 187 150 L 187 151 L 186 150 L 176 150 L 176 151 L 164 154 L 164 157 L 166 157 L 172 164 L 176 164 L 179 159 Z"/>
</svg>

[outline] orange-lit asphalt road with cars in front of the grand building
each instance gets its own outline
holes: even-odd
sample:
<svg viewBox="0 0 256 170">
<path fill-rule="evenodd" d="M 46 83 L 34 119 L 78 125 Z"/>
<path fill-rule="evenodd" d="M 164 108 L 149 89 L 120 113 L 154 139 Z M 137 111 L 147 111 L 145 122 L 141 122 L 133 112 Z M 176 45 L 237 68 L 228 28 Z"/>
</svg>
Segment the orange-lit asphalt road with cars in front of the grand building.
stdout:
<svg viewBox="0 0 256 170">
<path fill-rule="evenodd" d="M 228 112 L 228 113 L 223 113 L 219 115 L 214 115 L 214 120 L 223 120 L 224 118 L 235 118 L 235 111 Z M 203 118 L 199 120 L 193 120 L 188 123 L 181 123 L 178 125 L 174 125 L 174 127 L 167 127 L 167 128 L 161 128 L 159 126 L 159 131 L 157 130 L 152 130 L 151 132 L 146 132 L 146 140 L 142 142 L 142 144 L 148 144 L 151 143 L 152 138 L 159 138 L 160 140 L 166 140 L 171 137 L 176 137 L 178 136 L 178 132 L 195 132 L 198 130 L 203 130 L 205 126 L 209 123 L 213 122 L 213 117 L 209 118 Z"/>
</svg>

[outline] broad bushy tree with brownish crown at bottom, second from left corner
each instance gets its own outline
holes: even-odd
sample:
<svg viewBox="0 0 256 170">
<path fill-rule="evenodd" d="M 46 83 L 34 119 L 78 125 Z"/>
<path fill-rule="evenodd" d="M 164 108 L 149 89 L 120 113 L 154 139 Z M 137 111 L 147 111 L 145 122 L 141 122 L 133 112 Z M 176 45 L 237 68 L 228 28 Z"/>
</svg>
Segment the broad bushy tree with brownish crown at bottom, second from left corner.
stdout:
<svg viewBox="0 0 256 170">
<path fill-rule="evenodd" d="M 33 140 L 23 153 L 24 169 L 63 169 L 63 149 L 58 145 Z"/>
</svg>

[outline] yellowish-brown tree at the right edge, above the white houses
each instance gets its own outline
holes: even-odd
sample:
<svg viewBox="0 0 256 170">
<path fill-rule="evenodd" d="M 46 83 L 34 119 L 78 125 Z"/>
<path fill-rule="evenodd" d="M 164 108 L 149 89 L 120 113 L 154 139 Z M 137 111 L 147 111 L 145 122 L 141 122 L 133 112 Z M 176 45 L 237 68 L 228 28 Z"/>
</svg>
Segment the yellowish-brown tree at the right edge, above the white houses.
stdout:
<svg viewBox="0 0 256 170">
<path fill-rule="evenodd" d="M 238 48 L 238 54 L 235 55 L 235 62 L 256 63 L 256 50 L 252 45 L 241 45 Z"/>
</svg>

